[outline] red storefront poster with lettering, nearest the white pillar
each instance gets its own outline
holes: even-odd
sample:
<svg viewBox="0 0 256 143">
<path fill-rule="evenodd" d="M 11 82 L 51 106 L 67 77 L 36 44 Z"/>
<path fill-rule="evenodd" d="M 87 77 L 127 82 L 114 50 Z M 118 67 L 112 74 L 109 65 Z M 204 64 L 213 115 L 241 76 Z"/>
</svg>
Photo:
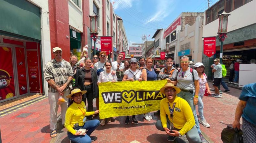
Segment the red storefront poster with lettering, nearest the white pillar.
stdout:
<svg viewBox="0 0 256 143">
<path fill-rule="evenodd" d="M 37 51 L 27 51 L 29 91 L 40 93 L 39 63 Z"/>
</svg>

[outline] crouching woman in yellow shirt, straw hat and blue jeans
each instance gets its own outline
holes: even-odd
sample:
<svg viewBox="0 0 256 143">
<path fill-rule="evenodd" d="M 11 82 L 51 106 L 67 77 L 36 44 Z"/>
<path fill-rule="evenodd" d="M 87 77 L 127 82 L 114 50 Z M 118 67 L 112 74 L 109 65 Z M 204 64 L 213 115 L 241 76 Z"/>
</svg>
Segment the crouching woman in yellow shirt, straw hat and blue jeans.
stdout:
<svg viewBox="0 0 256 143">
<path fill-rule="evenodd" d="M 85 120 L 85 116 L 99 113 L 99 110 L 86 112 L 85 102 L 82 101 L 82 95 L 86 92 L 80 89 L 74 89 L 71 91 L 71 94 L 66 96 L 66 98 L 72 99 L 65 117 L 65 127 L 68 131 L 67 136 L 71 141 L 77 143 L 91 143 L 94 141 L 95 138 L 90 137 L 90 135 L 99 126 L 99 120 Z M 87 132 L 82 133 L 78 131 L 79 129 L 86 129 Z"/>
</svg>

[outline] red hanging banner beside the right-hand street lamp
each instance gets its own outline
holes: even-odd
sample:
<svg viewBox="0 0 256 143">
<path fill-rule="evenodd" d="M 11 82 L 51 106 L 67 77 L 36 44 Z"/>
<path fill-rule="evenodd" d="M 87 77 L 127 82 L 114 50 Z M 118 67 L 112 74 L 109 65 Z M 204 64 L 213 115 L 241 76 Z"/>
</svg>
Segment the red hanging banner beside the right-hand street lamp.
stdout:
<svg viewBox="0 0 256 143">
<path fill-rule="evenodd" d="M 216 37 L 204 38 L 204 54 L 211 57 L 216 53 Z"/>
</svg>

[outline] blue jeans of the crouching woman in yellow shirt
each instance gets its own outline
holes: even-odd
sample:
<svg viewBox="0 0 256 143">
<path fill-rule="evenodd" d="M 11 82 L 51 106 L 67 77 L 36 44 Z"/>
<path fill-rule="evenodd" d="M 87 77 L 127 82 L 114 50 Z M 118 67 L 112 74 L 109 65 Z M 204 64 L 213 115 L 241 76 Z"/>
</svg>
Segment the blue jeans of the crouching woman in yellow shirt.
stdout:
<svg viewBox="0 0 256 143">
<path fill-rule="evenodd" d="M 92 140 L 90 138 L 90 135 L 98 126 L 99 126 L 99 120 L 96 120 L 96 119 L 89 120 L 89 121 L 85 122 L 84 126 L 78 126 L 75 128 L 76 130 L 79 130 L 81 128 L 87 129 L 88 131 L 87 131 L 86 135 L 75 136 L 68 131 L 67 136 L 71 141 L 76 142 L 76 143 L 91 143 Z"/>
</svg>

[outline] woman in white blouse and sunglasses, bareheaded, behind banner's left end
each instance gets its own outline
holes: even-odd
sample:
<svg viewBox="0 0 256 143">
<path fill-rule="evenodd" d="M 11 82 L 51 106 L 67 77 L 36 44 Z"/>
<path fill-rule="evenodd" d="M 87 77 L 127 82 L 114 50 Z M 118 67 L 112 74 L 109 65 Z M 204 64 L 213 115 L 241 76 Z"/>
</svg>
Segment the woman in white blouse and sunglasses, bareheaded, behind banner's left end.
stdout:
<svg viewBox="0 0 256 143">
<path fill-rule="evenodd" d="M 99 85 L 101 82 L 108 82 L 108 81 L 116 82 L 117 81 L 116 74 L 111 73 L 111 67 L 112 67 L 111 62 L 109 60 L 106 61 L 104 66 L 105 66 L 106 70 L 103 72 L 100 72 L 97 84 Z M 107 121 L 108 121 L 108 123 L 110 123 L 111 118 L 107 118 Z M 102 119 L 100 122 L 100 125 L 105 126 L 106 119 Z"/>
</svg>

